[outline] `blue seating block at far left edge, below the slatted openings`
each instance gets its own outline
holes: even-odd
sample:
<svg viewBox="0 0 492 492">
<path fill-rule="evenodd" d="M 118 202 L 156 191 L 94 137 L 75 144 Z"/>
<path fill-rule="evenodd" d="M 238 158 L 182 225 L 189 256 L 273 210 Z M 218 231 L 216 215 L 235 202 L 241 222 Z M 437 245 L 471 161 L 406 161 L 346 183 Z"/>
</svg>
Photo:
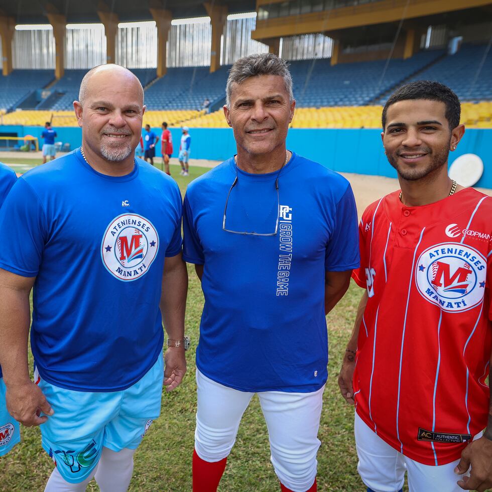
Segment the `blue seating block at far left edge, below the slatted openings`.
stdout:
<svg viewBox="0 0 492 492">
<path fill-rule="evenodd" d="M 7 76 L 0 74 L 0 108 L 16 107 L 31 92 L 54 78 L 53 70 L 14 70 Z"/>
</svg>

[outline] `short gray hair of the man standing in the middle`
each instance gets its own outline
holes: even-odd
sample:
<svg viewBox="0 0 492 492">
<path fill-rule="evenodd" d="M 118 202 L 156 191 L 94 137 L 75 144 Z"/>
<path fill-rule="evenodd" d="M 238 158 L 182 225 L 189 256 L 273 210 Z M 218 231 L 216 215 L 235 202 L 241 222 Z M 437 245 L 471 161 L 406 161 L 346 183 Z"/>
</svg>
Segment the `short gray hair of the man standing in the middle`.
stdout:
<svg viewBox="0 0 492 492">
<path fill-rule="evenodd" d="M 284 79 L 285 89 L 289 93 L 289 100 L 294 100 L 292 92 L 292 76 L 288 63 L 273 53 L 258 53 L 239 58 L 229 70 L 227 85 L 225 86 L 225 104 L 230 105 L 232 84 L 240 84 L 255 75 L 280 75 Z"/>
</svg>

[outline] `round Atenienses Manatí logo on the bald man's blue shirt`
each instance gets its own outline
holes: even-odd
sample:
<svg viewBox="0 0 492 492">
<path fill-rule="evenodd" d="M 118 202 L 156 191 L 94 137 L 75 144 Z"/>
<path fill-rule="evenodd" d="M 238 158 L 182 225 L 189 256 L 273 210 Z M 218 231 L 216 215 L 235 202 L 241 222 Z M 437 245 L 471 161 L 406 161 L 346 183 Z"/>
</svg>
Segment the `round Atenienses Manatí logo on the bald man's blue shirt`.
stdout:
<svg viewBox="0 0 492 492">
<path fill-rule="evenodd" d="M 135 213 L 118 215 L 107 226 L 101 243 L 102 263 L 119 280 L 142 277 L 159 251 L 159 236 L 150 220 Z"/>
</svg>

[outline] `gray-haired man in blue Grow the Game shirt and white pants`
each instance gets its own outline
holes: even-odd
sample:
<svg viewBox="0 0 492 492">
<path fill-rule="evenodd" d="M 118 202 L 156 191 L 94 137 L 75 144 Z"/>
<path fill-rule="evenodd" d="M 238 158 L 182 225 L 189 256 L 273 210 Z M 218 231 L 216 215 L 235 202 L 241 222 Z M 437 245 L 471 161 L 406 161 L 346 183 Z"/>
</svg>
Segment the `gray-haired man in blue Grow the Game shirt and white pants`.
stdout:
<svg viewBox="0 0 492 492">
<path fill-rule="evenodd" d="M 237 155 L 191 182 L 183 209 L 183 257 L 205 297 L 193 491 L 216 490 L 256 393 L 282 490 L 314 492 L 325 314 L 359 265 L 355 201 L 345 178 L 286 149 L 295 100 L 285 61 L 237 60 L 226 98 Z"/>
</svg>

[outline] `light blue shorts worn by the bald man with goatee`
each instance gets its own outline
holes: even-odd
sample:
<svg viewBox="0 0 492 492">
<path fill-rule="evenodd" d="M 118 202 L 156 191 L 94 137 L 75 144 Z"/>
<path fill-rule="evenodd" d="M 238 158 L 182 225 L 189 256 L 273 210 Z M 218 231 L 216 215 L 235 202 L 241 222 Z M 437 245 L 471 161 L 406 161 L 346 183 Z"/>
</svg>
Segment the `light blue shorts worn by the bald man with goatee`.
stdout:
<svg viewBox="0 0 492 492">
<path fill-rule="evenodd" d="M 85 480 L 103 446 L 116 452 L 139 446 L 161 413 L 163 379 L 162 352 L 147 374 L 124 391 L 65 390 L 40 378 L 39 387 L 55 411 L 40 425 L 41 443 L 67 482 Z"/>
</svg>

